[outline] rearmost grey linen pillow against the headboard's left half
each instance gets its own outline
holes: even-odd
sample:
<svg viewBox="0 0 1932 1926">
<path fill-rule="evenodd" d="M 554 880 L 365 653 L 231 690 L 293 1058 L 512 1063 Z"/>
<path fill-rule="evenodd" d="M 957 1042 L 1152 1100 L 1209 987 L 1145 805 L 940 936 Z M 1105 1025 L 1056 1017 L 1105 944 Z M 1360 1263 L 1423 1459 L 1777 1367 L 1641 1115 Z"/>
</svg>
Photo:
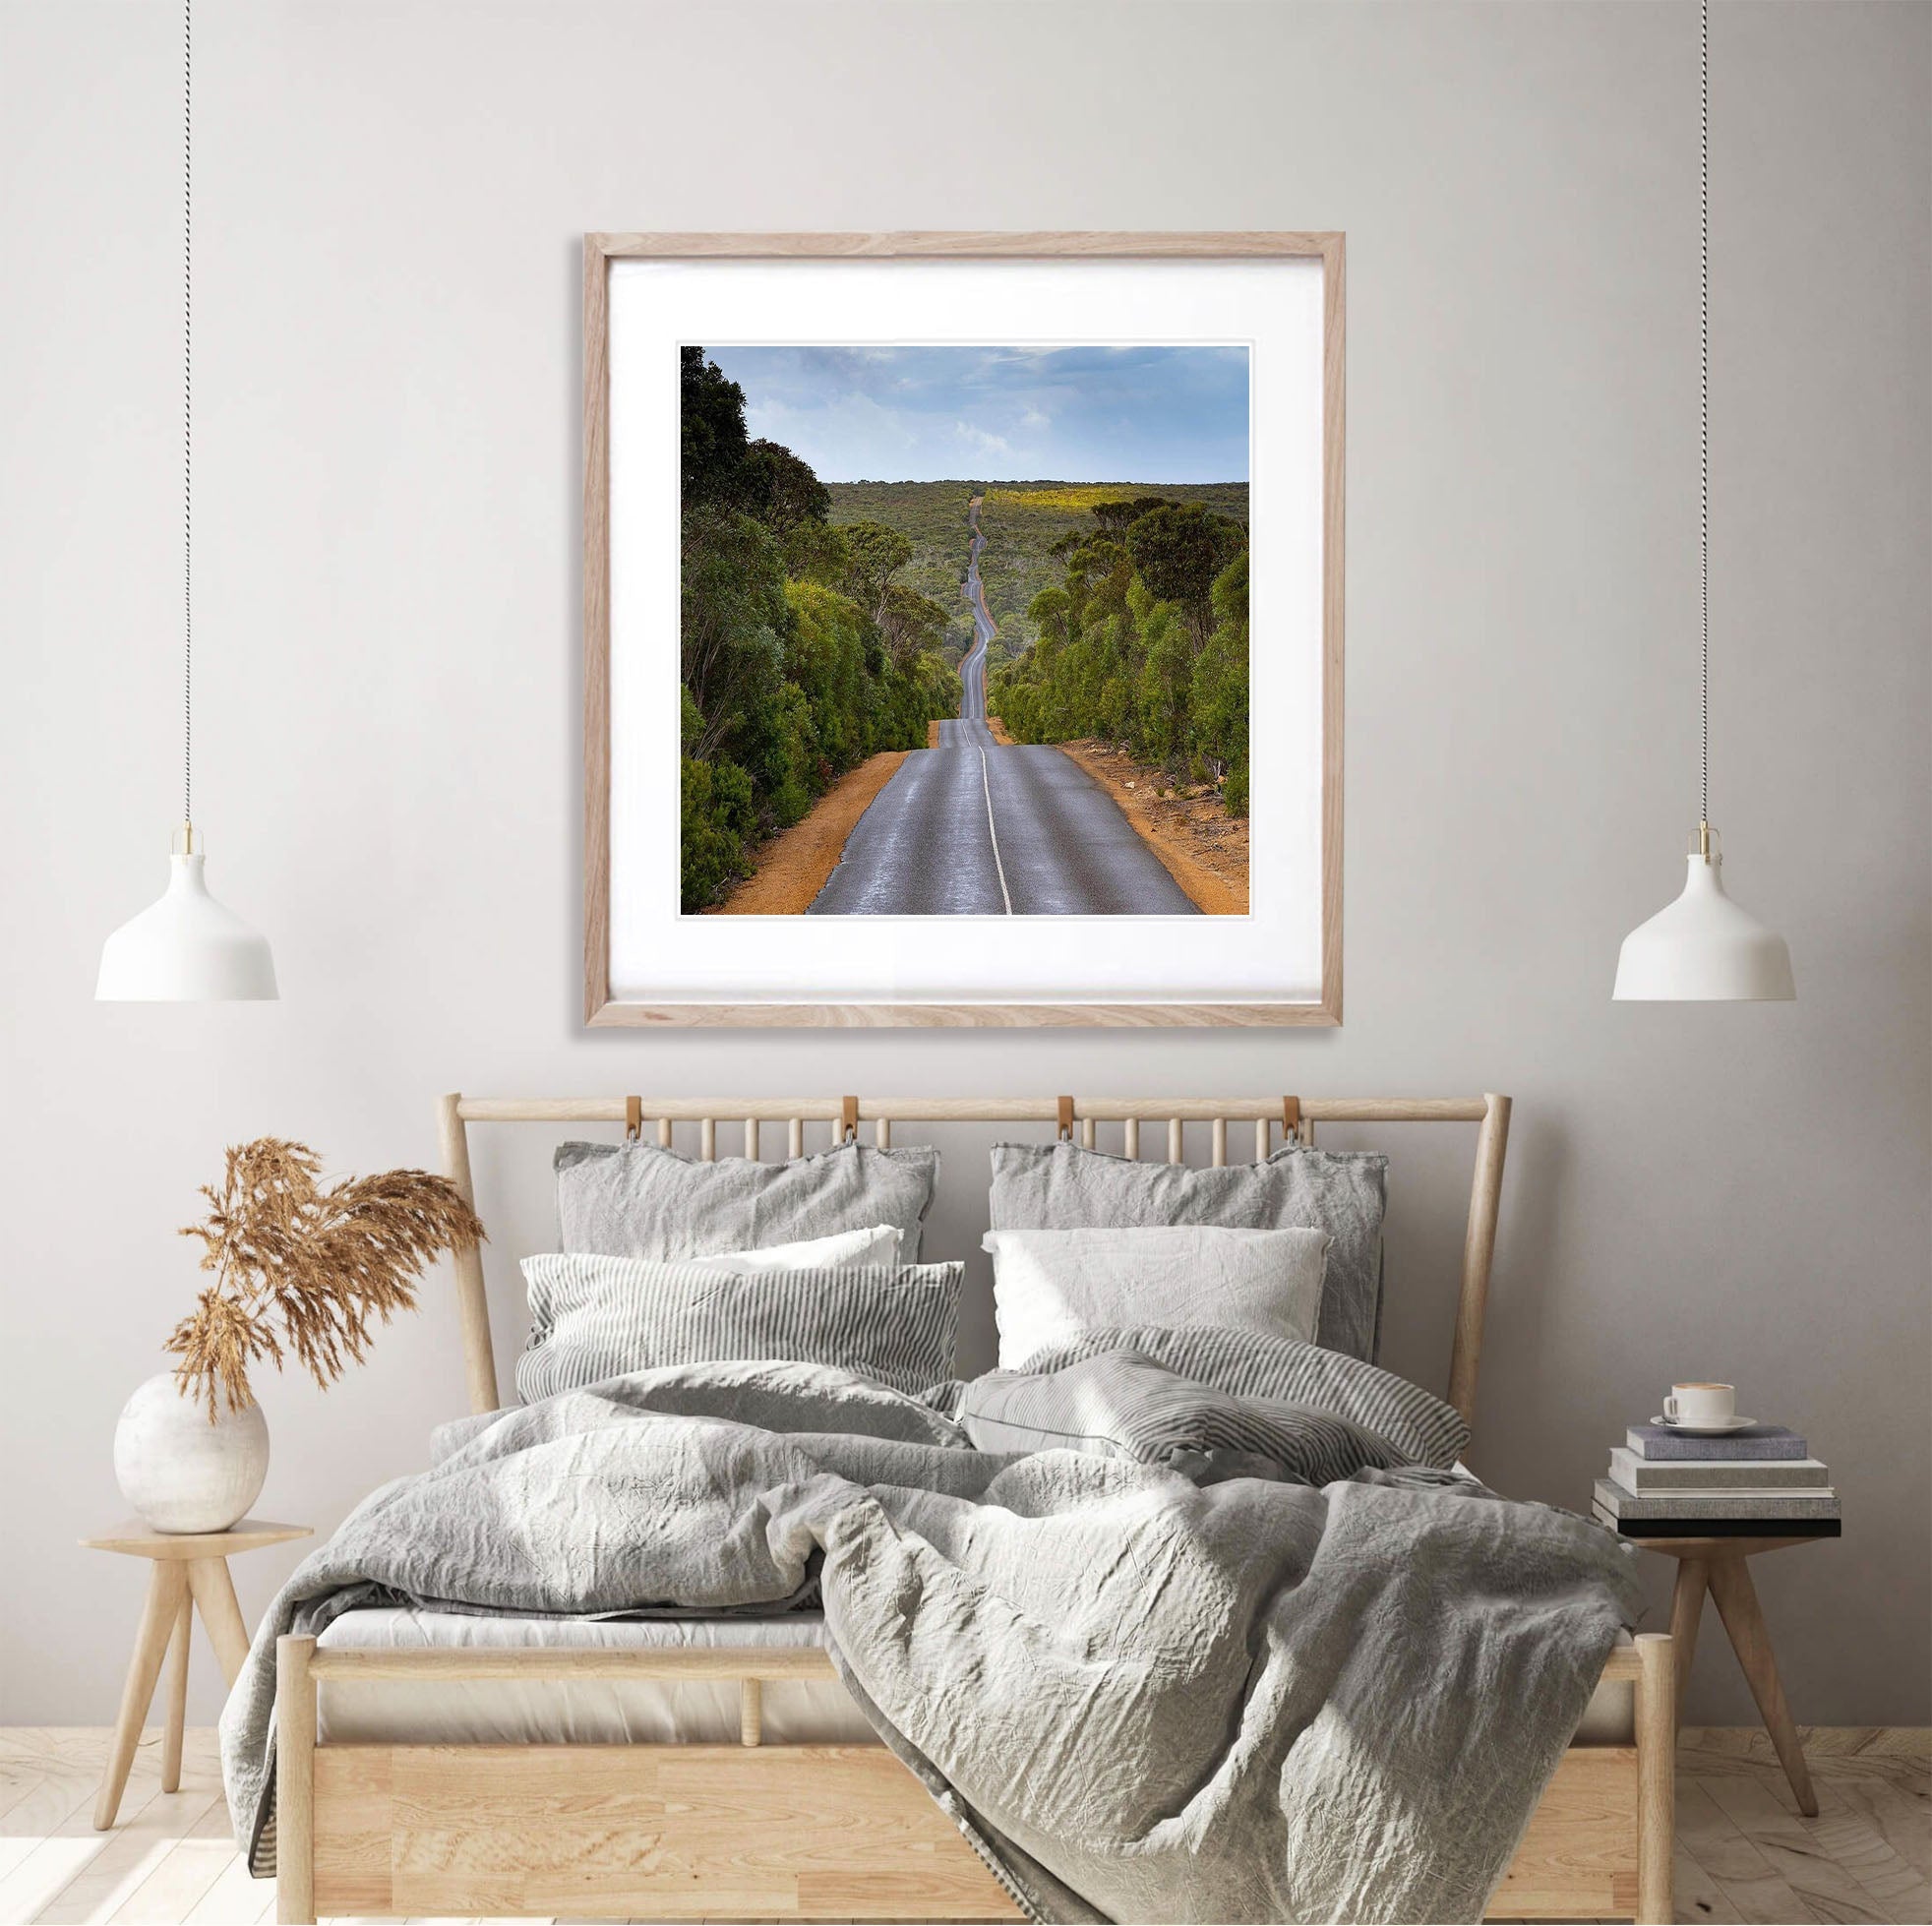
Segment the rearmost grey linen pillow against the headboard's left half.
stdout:
<svg viewBox="0 0 1932 1926">
<path fill-rule="evenodd" d="M 554 1169 L 568 1252 L 703 1258 L 895 1225 L 898 1261 L 918 1263 L 939 1151 L 840 1144 L 788 1163 L 701 1163 L 657 1144 L 560 1144 Z"/>
</svg>

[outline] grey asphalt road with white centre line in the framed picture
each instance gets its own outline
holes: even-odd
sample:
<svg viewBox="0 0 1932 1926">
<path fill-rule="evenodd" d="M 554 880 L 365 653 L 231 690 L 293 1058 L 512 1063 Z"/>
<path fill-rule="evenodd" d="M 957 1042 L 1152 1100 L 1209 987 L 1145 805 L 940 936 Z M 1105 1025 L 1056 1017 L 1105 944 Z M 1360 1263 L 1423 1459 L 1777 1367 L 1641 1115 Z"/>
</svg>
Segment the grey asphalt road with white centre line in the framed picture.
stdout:
<svg viewBox="0 0 1932 1926">
<path fill-rule="evenodd" d="M 980 496 L 966 520 L 974 645 L 958 721 L 912 750 L 846 838 L 808 916 L 1198 916 L 1113 798 L 1053 748 L 985 726 L 993 618 L 980 583 Z"/>
</svg>

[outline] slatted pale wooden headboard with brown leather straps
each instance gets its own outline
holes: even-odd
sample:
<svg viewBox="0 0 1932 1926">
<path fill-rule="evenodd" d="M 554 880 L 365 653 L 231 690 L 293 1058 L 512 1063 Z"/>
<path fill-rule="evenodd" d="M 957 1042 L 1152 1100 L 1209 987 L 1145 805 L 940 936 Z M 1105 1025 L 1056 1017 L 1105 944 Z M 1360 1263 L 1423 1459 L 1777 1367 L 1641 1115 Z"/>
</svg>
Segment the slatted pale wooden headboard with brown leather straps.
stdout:
<svg viewBox="0 0 1932 1926">
<path fill-rule="evenodd" d="M 1474 1424 L 1476 1364 L 1482 1317 L 1490 1300 L 1490 1261 L 1495 1256 L 1495 1217 L 1503 1196 L 1503 1151 L 1509 1142 L 1509 1097 L 462 1097 L 437 1105 L 442 1130 L 442 1169 L 475 1205 L 469 1176 L 469 1124 L 624 1124 L 639 1136 L 655 1126 L 667 1147 L 676 1124 L 697 1124 L 697 1153 L 717 1155 L 719 1124 L 744 1126 L 744 1153 L 757 1157 L 759 1126 L 784 1124 L 786 1155 L 806 1151 L 806 1124 L 831 1126 L 831 1140 L 873 1126 L 881 1147 L 895 1124 L 1051 1124 L 1061 1136 L 1078 1128 L 1092 1149 L 1099 1124 L 1121 1124 L 1124 1151 L 1140 1155 L 1140 1126 L 1167 1124 L 1167 1161 L 1184 1161 L 1186 1126 L 1208 1124 L 1213 1163 L 1227 1163 L 1229 1124 L 1254 1128 L 1254 1155 L 1275 1142 L 1314 1144 L 1316 1124 L 1476 1124 L 1476 1175 L 1463 1236 L 1463 1289 L 1457 1300 L 1455 1346 L 1449 1356 L 1449 1402 Z M 497 1352 L 489 1335 L 483 1254 L 456 1260 L 456 1302 L 464 1329 L 469 1408 L 497 1410 Z"/>
</svg>

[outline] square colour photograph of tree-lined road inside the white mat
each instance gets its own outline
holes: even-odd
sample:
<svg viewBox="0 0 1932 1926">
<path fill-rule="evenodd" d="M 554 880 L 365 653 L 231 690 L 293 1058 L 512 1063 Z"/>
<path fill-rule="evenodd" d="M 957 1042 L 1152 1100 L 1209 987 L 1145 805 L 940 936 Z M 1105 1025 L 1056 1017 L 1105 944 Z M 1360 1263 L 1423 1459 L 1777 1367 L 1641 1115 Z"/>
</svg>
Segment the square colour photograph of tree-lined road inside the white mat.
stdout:
<svg viewBox="0 0 1932 1926">
<path fill-rule="evenodd" d="M 1246 348 L 686 346 L 680 404 L 684 914 L 1246 914 Z"/>
</svg>

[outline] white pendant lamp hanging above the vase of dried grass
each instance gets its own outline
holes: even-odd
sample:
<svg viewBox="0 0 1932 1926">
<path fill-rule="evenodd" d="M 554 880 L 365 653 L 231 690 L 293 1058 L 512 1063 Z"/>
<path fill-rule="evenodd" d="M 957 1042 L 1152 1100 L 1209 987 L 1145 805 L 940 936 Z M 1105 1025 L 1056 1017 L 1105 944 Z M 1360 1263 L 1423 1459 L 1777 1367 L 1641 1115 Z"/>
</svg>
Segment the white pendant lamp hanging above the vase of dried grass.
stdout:
<svg viewBox="0 0 1932 1926">
<path fill-rule="evenodd" d="M 195 836 L 195 10 L 184 6 L 184 336 L 182 359 L 182 827 L 174 835 L 168 889 L 100 950 L 95 997 L 102 1003 L 243 1003 L 276 995 L 269 941 L 224 910 L 203 873 Z"/>
</svg>

